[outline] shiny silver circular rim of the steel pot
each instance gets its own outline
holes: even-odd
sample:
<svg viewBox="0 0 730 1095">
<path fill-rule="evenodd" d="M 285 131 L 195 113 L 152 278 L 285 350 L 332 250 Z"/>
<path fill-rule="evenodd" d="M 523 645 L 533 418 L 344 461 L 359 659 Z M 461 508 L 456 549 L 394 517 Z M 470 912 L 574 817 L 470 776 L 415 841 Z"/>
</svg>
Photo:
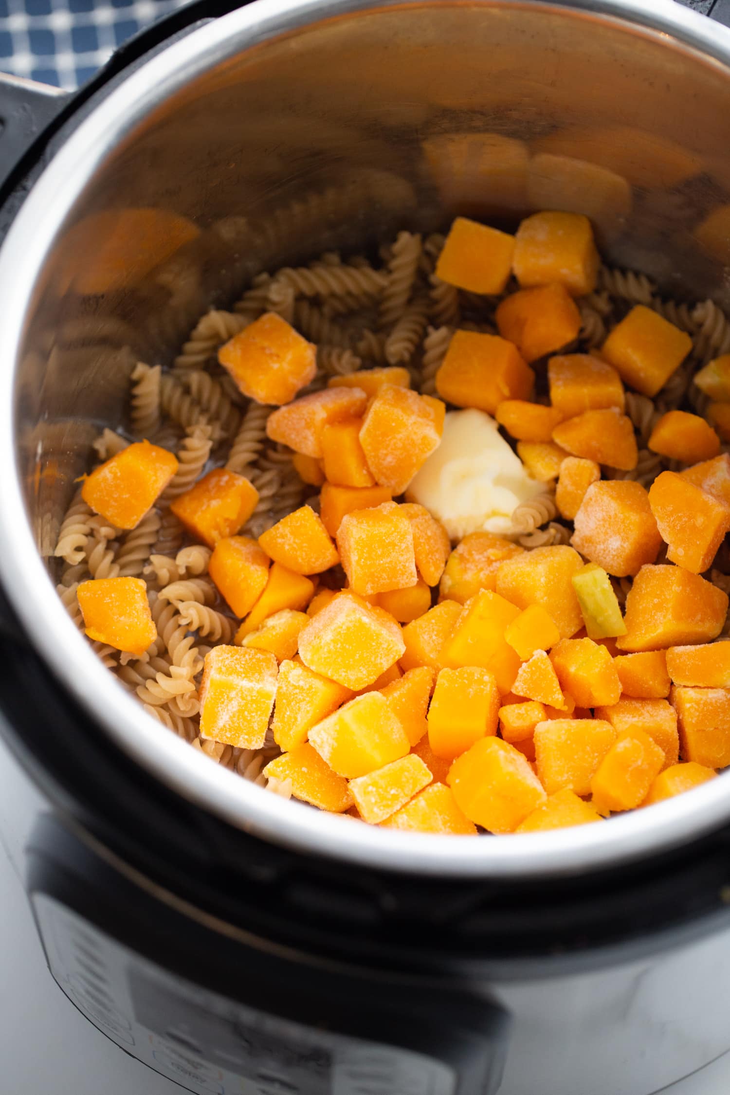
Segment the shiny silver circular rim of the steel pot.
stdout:
<svg viewBox="0 0 730 1095">
<path fill-rule="evenodd" d="M 81 123 L 31 191 L 0 252 L 4 303 L 0 360 L 15 361 L 32 290 L 59 224 L 108 151 L 165 97 L 213 65 L 280 33 L 370 8 L 424 7 L 439 0 L 258 0 L 169 46 L 127 78 Z M 503 0 L 477 0 L 500 5 Z M 730 64 L 730 32 L 674 0 L 514 0 L 592 19 L 610 18 L 637 33 L 679 39 L 704 59 Z M 730 72 L 729 72 L 730 76 Z M 421 875 L 537 878 L 607 868 L 679 846 L 730 820 L 730 794 L 710 781 L 673 800 L 583 826 L 511 839 L 424 835 L 343 825 L 294 800 L 282 800 L 240 776 L 205 763 L 189 745 L 159 727 L 101 664 L 71 623 L 38 554 L 14 452 L 14 369 L 0 373 L 0 580 L 36 649 L 116 746 L 169 787 L 266 841 L 362 866 Z M 69 673 L 69 666 L 73 672 Z"/>
</svg>

